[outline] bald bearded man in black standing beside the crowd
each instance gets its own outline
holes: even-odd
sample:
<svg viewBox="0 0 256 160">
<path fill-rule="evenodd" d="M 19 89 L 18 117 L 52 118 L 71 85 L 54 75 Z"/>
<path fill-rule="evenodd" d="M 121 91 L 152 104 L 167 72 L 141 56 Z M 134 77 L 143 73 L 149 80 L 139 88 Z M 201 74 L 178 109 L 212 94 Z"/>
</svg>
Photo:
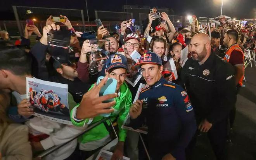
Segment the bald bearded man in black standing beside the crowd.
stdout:
<svg viewBox="0 0 256 160">
<path fill-rule="evenodd" d="M 197 134 L 207 132 L 217 160 L 227 160 L 225 140 L 228 114 L 235 105 L 235 70 L 211 53 L 211 41 L 207 34 L 195 34 L 190 47 L 192 58 L 184 65 L 181 80 L 194 107 Z M 188 159 L 193 156 L 195 138 L 187 148 Z"/>
</svg>

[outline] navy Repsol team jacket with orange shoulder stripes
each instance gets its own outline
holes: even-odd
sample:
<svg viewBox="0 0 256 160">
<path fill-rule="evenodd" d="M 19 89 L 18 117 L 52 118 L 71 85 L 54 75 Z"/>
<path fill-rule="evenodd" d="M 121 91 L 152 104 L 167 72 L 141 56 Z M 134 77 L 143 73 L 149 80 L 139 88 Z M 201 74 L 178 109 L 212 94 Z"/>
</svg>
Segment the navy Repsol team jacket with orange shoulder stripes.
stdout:
<svg viewBox="0 0 256 160">
<path fill-rule="evenodd" d="M 185 160 L 185 148 L 197 128 L 186 91 L 162 77 L 142 90 L 138 99 L 144 101 L 142 113 L 129 126 L 137 129 L 146 118 L 150 157 L 161 159 L 171 153 L 177 160 Z"/>
</svg>

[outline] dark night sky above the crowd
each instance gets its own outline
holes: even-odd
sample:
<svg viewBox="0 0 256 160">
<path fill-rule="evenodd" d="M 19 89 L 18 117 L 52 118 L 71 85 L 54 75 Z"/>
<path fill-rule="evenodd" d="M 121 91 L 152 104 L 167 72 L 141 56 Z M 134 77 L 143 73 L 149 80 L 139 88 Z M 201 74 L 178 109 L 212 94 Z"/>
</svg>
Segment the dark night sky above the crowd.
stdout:
<svg viewBox="0 0 256 160">
<path fill-rule="evenodd" d="M 0 0 L 0 20 L 14 20 L 12 5 L 84 9 L 85 0 Z M 94 10 L 121 11 L 123 5 L 148 5 L 173 9 L 175 15 L 195 14 L 200 17 L 220 15 L 221 0 L 87 0 L 89 15 Z M 109 7 L 107 7 L 109 6 Z M 232 18 L 256 18 L 256 0 L 224 0 L 223 14 Z"/>
</svg>

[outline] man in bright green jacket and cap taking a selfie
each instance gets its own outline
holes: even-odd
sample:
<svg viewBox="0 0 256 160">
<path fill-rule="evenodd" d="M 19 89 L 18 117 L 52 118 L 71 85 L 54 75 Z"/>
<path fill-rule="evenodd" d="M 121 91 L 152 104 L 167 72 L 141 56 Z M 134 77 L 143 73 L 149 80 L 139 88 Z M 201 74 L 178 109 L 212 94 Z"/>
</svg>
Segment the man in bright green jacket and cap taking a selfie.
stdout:
<svg viewBox="0 0 256 160">
<path fill-rule="evenodd" d="M 120 54 L 111 55 L 106 61 L 106 77 L 117 80 L 116 93 L 117 97 L 115 98 L 116 104 L 112 107 L 114 112 L 112 112 L 109 116 L 111 120 L 116 119 L 118 117 L 118 127 L 119 127 L 119 139 L 118 144 L 116 145 L 116 149 L 112 156 L 111 160 L 119 160 L 123 157 L 123 148 L 124 142 L 126 138 L 126 129 L 122 129 L 121 126 L 129 112 L 130 106 L 132 104 L 132 96 L 131 91 L 128 89 L 127 84 L 125 83 L 126 72 L 128 70 L 126 57 Z M 90 89 L 94 87 L 94 84 Z M 90 92 L 89 89 L 89 92 Z M 71 121 L 74 126 L 82 127 L 85 124 L 91 124 L 97 122 L 104 118 L 103 115 L 98 115 L 96 117 L 91 117 L 89 119 L 82 119 L 82 112 L 79 112 L 79 105 L 77 105 L 71 111 Z M 78 112 L 76 113 L 76 110 Z M 81 108 L 80 108 L 81 110 Z M 102 123 L 97 127 L 94 127 L 90 131 L 86 132 L 79 138 L 79 149 L 81 151 L 81 155 L 83 159 L 86 159 L 94 153 L 97 148 L 106 145 L 111 137 L 109 135 L 109 131 L 106 127 L 110 124 L 108 121 L 106 123 Z"/>
</svg>

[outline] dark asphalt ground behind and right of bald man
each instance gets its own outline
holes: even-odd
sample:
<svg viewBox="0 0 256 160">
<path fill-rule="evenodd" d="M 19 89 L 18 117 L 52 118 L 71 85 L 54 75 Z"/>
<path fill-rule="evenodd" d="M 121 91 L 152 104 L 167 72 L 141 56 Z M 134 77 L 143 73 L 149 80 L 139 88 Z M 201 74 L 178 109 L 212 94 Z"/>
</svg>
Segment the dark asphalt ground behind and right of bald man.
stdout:
<svg viewBox="0 0 256 160">
<path fill-rule="evenodd" d="M 247 67 L 245 77 L 246 87 L 237 96 L 229 160 L 256 160 L 256 67 Z M 216 160 L 206 134 L 198 137 L 193 160 Z"/>
</svg>

